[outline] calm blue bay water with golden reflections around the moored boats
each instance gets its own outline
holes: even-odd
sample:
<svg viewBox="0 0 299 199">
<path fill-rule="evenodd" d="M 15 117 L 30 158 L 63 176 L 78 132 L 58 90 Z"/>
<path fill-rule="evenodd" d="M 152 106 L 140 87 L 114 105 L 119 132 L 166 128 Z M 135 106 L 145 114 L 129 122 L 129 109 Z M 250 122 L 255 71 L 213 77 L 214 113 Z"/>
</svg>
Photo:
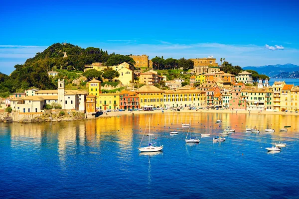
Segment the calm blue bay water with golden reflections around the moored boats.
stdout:
<svg viewBox="0 0 299 199">
<path fill-rule="evenodd" d="M 137 150 L 149 117 L 151 132 L 164 145 L 161 153 Z M 223 122 L 216 124 L 219 118 Z M 181 123 L 190 119 L 190 132 L 215 136 L 227 126 L 236 132 L 223 143 L 213 143 L 211 136 L 185 144 Z M 0 123 L 0 198 L 298 199 L 298 121 L 290 115 L 158 113 Z M 246 133 L 247 125 L 261 133 Z M 279 132 L 284 125 L 292 127 Z M 179 134 L 170 136 L 174 129 Z M 287 147 L 267 153 L 278 141 Z"/>
</svg>

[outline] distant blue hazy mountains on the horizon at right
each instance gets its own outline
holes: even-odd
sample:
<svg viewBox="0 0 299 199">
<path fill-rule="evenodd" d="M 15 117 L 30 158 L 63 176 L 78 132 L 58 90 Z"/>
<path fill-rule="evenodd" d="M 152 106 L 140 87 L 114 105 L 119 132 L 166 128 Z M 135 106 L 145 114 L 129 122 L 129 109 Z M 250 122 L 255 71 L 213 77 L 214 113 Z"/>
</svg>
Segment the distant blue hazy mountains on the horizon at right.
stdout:
<svg viewBox="0 0 299 199">
<path fill-rule="evenodd" d="M 246 66 L 243 67 L 243 70 L 254 70 L 259 74 L 268 75 L 269 77 L 276 77 L 281 73 L 290 73 L 294 71 L 299 71 L 299 66 L 294 64 L 277 64 L 277 65 L 268 65 L 268 66 Z"/>
</svg>

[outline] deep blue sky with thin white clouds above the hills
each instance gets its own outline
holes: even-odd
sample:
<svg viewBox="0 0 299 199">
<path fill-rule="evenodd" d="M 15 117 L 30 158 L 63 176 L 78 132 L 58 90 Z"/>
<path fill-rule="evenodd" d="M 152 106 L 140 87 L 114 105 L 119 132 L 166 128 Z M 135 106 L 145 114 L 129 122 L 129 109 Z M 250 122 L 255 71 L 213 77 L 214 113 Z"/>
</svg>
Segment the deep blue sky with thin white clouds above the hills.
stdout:
<svg viewBox="0 0 299 199">
<path fill-rule="evenodd" d="M 53 43 L 233 65 L 299 65 L 297 0 L 0 0 L 0 72 Z"/>
</svg>

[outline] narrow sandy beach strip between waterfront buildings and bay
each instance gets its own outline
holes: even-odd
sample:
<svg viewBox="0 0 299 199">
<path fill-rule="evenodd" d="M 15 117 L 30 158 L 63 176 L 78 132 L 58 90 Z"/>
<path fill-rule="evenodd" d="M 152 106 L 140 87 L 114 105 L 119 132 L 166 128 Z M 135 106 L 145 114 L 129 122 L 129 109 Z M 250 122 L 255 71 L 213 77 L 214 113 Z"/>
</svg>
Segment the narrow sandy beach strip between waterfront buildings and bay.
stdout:
<svg viewBox="0 0 299 199">
<path fill-rule="evenodd" d="M 216 110 L 216 109 L 199 109 L 199 110 L 188 110 L 188 109 L 181 109 L 180 111 L 173 111 L 173 110 L 163 110 L 164 113 L 170 113 L 170 112 L 190 112 L 190 113 L 234 113 L 234 114 L 273 114 L 273 115 L 299 115 L 299 112 L 282 112 L 282 111 L 258 111 L 258 110 L 230 110 L 230 109 L 223 109 L 223 110 Z M 143 111 L 143 110 L 137 110 L 137 111 L 112 111 L 104 113 L 103 115 L 99 116 L 98 118 L 103 117 L 115 117 L 115 116 L 121 116 L 121 115 L 134 115 L 134 114 L 146 114 L 146 113 L 161 113 L 162 110 L 153 110 L 153 111 Z"/>
</svg>

